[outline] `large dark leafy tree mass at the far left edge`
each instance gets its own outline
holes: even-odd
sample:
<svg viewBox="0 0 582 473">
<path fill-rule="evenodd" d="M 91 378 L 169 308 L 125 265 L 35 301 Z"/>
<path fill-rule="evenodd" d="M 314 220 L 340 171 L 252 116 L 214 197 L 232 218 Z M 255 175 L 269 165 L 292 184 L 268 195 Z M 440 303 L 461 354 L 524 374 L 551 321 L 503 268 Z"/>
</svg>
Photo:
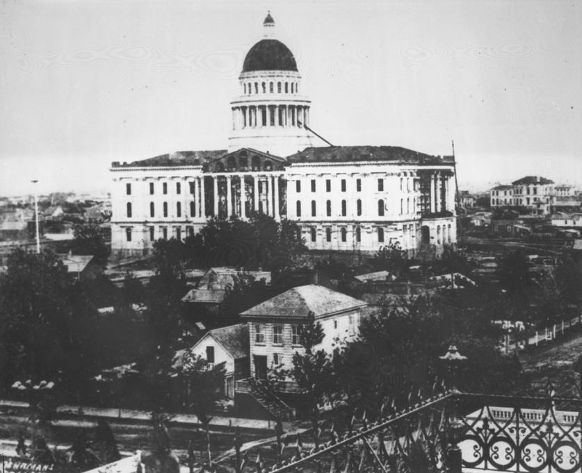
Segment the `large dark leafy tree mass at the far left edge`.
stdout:
<svg viewBox="0 0 582 473">
<path fill-rule="evenodd" d="M 16 249 L 0 276 L 2 382 L 32 379 L 81 388 L 98 358 L 97 313 L 51 251 Z"/>
</svg>

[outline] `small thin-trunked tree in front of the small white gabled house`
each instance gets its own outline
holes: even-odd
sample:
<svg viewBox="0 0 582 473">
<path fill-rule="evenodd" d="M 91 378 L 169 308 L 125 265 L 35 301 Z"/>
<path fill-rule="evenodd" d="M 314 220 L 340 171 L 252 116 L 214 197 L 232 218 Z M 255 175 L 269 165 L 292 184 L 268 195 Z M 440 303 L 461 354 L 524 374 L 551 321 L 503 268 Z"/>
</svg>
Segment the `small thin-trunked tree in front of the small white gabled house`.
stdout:
<svg viewBox="0 0 582 473">
<path fill-rule="evenodd" d="M 181 373 L 193 388 L 188 407 L 198 417 L 206 432 L 208 465 L 211 467 L 210 421 L 216 409 L 216 401 L 223 397 L 225 363 L 210 366 L 207 360 L 186 350 L 182 358 Z"/>
</svg>

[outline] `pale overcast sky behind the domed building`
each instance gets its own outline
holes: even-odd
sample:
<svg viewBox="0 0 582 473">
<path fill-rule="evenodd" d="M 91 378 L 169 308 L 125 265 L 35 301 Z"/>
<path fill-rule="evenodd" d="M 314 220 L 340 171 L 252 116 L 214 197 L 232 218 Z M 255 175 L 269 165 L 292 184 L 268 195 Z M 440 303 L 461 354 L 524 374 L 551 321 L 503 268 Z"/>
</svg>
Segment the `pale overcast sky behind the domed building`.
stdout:
<svg viewBox="0 0 582 473">
<path fill-rule="evenodd" d="M 270 10 L 333 144 L 451 153 L 461 188 L 582 185 L 582 1 L 4 0 L 0 194 L 108 188 L 113 160 L 225 149 Z"/>
</svg>

